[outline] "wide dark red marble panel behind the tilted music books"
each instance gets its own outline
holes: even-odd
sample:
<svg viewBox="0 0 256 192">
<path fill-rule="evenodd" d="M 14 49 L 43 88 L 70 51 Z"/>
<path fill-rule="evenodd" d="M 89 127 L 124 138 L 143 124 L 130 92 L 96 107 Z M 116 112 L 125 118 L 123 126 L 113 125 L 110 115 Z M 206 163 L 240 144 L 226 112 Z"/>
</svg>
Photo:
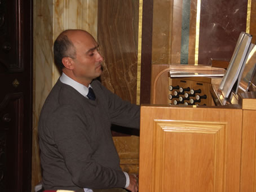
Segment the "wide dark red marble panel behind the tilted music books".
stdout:
<svg viewBox="0 0 256 192">
<path fill-rule="evenodd" d="M 230 61 L 241 32 L 246 32 L 248 0 L 201 1 L 198 64 Z"/>
</svg>

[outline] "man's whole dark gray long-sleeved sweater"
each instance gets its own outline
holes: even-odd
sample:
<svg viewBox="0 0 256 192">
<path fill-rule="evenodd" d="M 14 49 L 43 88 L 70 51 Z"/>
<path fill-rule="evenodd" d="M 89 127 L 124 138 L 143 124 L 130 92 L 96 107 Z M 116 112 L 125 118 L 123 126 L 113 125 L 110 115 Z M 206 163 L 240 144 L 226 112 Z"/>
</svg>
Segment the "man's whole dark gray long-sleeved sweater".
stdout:
<svg viewBox="0 0 256 192">
<path fill-rule="evenodd" d="M 43 105 L 38 124 L 45 190 L 124 187 L 126 177 L 111 124 L 139 128 L 140 107 L 122 101 L 99 81 L 89 100 L 60 80 Z"/>
</svg>

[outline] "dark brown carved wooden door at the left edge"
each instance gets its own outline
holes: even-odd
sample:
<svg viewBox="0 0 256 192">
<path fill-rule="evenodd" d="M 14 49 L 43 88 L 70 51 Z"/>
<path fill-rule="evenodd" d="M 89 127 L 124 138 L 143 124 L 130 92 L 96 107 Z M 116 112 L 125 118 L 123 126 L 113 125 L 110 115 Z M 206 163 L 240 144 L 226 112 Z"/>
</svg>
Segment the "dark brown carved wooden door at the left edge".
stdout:
<svg viewBox="0 0 256 192">
<path fill-rule="evenodd" d="M 0 0 L 0 191 L 31 191 L 32 0 Z"/>
</svg>

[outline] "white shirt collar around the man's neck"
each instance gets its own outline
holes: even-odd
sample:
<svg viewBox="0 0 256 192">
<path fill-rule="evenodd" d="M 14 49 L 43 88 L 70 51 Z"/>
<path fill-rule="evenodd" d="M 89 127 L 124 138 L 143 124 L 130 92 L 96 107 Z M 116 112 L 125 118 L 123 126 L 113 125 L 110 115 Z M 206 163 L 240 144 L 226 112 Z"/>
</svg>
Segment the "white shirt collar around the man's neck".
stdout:
<svg viewBox="0 0 256 192">
<path fill-rule="evenodd" d="M 73 87 L 75 90 L 77 90 L 81 95 L 85 96 L 89 92 L 89 88 L 84 86 L 81 83 L 78 83 L 77 81 L 74 81 L 74 79 L 68 77 L 65 73 L 62 73 L 60 76 L 61 83 L 68 84 L 69 86 Z M 91 84 L 89 84 L 89 87 L 91 87 Z"/>
</svg>

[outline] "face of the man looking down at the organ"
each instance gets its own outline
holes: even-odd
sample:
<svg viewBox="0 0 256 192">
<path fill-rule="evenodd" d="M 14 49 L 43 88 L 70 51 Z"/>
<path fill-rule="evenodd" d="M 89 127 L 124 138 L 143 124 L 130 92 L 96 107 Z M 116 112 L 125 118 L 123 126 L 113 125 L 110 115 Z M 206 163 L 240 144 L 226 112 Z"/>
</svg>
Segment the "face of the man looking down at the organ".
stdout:
<svg viewBox="0 0 256 192">
<path fill-rule="evenodd" d="M 73 59 L 73 73 L 77 81 L 82 84 L 90 83 L 102 73 L 101 62 L 103 57 L 99 53 L 99 45 L 90 34 L 78 32 L 72 42 L 76 47 L 77 57 Z"/>
</svg>

